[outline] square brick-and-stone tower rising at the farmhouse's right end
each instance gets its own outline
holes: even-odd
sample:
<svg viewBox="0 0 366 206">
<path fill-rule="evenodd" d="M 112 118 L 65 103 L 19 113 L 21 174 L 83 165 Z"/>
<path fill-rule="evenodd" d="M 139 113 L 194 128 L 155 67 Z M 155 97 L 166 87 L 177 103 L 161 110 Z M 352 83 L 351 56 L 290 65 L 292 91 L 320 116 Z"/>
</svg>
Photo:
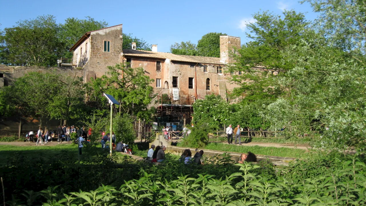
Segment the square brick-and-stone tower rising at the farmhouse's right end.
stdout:
<svg viewBox="0 0 366 206">
<path fill-rule="evenodd" d="M 240 48 L 240 37 L 220 36 L 220 62 L 224 64 L 233 63 L 233 54 L 238 54 Z"/>
</svg>

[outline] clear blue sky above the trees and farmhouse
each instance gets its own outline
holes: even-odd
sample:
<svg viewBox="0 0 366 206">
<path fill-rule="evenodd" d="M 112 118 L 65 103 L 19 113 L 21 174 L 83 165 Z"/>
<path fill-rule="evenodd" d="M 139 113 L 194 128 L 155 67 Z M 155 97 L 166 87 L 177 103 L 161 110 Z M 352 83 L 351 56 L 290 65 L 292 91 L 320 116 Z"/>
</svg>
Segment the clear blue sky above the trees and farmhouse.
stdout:
<svg viewBox="0 0 366 206">
<path fill-rule="evenodd" d="M 53 15 L 57 23 L 69 17 L 91 16 L 108 22 L 108 26 L 123 24 L 123 33 L 157 44 L 159 52 L 169 52 L 175 42 L 197 44 L 209 32 L 240 37 L 244 44 L 249 41 L 246 23 L 253 21 L 252 14 L 261 11 L 281 15 L 283 10 L 293 9 L 305 13 L 309 21 L 317 16 L 309 3 L 296 0 L 0 0 L 0 6 L 0 29 L 40 15 Z"/>
</svg>

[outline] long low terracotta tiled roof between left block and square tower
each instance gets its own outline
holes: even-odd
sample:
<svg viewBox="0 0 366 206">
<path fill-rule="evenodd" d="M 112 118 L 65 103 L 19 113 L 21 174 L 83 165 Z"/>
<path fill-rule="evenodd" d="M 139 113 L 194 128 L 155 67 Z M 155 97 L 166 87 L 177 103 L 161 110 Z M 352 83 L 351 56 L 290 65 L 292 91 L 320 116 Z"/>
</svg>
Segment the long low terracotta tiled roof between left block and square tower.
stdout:
<svg viewBox="0 0 366 206">
<path fill-rule="evenodd" d="M 134 49 L 123 49 L 123 55 L 125 56 L 140 56 L 140 57 L 150 57 L 158 59 L 170 59 L 172 61 L 178 62 L 193 62 L 193 63 L 206 63 L 215 65 L 224 65 L 220 62 L 220 58 L 217 57 L 207 57 L 207 56 L 188 56 L 188 55 L 176 55 L 166 52 L 152 52 Z"/>
</svg>

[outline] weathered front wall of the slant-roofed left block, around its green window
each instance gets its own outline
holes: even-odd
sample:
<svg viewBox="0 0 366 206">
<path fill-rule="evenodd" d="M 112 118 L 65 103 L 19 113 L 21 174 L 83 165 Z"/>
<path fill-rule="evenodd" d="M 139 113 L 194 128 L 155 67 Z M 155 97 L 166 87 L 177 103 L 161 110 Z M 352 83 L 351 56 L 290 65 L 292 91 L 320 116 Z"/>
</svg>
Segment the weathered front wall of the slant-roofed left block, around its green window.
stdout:
<svg viewBox="0 0 366 206">
<path fill-rule="evenodd" d="M 104 41 L 110 41 L 110 52 L 104 52 Z M 108 71 L 107 66 L 121 63 L 122 57 L 122 25 L 91 32 L 90 55 L 85 69 L 94 71 L 101 77 Z"/>
</svg>

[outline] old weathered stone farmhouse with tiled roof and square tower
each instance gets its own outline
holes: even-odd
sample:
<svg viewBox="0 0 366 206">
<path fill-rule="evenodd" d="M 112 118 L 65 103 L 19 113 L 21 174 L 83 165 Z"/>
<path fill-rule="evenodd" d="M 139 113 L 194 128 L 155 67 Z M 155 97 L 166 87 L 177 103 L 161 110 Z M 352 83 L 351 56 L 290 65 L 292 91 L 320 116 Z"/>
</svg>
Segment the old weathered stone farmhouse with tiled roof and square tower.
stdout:
<svg viewBox="0 0 366 206">
<path fill-rule="evenodd" d="M 152 51 L 122 49 L 122 24 L 85 33 L 70 49 L 77 67 L 85 69 L 85 80 L 100 77 L 107 66 L 130 63 L 132 68 L 143 67 L 145 74 L 155 80 L 155 93 L 177 94 L 182 97 L 204 98 L 214 93 L 227 97 L 236 85 L 231 84 L 225 66 L 232 63 L 231 54 L 240 48 L 240 38 L 220 36 L 220 58 L 205 56 L 175 55 L 158 52 L 157 45 Z"/>
</svg>

